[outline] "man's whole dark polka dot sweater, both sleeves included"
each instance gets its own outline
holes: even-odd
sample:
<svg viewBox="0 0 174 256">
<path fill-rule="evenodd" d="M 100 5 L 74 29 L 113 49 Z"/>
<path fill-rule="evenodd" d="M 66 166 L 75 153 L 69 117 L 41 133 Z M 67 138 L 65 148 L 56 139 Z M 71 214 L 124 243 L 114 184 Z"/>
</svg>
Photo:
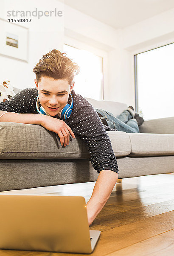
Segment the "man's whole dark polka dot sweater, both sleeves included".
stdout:
<svg viewBox="0 0 174 256">
<path fill-rule="evenodd" d="M 111 170 L 118 173 L 117 159 L 106 132 L 117 130 L 104 125 L 95 108 L 84 97 L 75 93 L 74 90 L 71 94 L 74 99 L 73 111 L 70 117 L 64 120 L 65 123 L 75 135 L 78 135 L 86 143 L 91 163 L 97 172 Z M 23 89 L 11 99 L 1 102 L 0 110 L 38 114 L 36 109 L 37 96 L 37 88 Z M 60 119 L 58 115 L 54 117 Z"/>
</svg>

